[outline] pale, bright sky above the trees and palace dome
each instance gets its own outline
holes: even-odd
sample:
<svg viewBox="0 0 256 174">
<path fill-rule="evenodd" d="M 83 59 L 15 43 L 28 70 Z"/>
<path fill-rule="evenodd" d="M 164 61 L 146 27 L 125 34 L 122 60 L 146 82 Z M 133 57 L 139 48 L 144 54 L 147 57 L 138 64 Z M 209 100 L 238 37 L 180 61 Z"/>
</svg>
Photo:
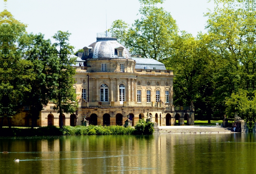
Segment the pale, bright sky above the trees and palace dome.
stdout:
<svg viewBox="0 0 256 174">
<path fill-rule="evenodd" d="M 51 39 L 59 30 L 71 33 L 70 45 L 82 49 L 96 42 L 96 34 L 110 28 L 113 21 L 122 19 L 129 25 L 139 19 L 138 0 L 8 0 L 6 8 L 15 19 L 28 24 L 27 32 L 42 33 Z M 206 32 L 204 13 L 214 9 L 208 0 L 166 0 L 160 4 L 176 20 L 179 30 L 196 36 Z"/>
</svg>

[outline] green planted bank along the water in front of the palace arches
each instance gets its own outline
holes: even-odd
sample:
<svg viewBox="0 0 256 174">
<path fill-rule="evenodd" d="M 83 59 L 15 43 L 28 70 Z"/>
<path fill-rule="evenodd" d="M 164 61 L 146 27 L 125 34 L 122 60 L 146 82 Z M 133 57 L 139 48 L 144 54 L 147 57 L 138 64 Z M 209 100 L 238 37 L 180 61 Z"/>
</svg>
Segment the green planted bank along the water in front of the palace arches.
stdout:
<svg viewBox="0 0 256 174">
<path fill-rule="evenodd" d="M 134 127 L 123 126 L 63 126 L 62 129 L 55 126 L 43 126 L 31 128 L 2 128 L 0 136 L 56 136 L 56 135 L 144 135 L 154 132 L 154 124 L 139 120 Z"/>
</svg>

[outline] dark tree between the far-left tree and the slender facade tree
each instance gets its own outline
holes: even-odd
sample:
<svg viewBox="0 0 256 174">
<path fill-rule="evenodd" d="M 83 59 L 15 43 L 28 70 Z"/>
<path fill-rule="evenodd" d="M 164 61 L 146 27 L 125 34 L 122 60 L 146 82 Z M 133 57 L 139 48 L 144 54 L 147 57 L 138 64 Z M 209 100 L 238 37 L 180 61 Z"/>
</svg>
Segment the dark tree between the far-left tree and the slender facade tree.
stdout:
<svg viewBox="0 0 256 174">
<path fill-rule="evenodd" d="M 49 39 L 44 39 L 43 34 L 29 34 L 28 40 L 24 57 L 33 63 L 33 73 L 36 78 L 27 80 L 31 91 L 26 92 L 23 102 L 29 106 L 27 117 L 31 118 L 31 128 L 33 129 L 36 119 L 39 118 L 39 114 L 43 110 L 43 105 L 48 103 L 47 60 L 53 56 L 55 48 Z"/>
</svg>

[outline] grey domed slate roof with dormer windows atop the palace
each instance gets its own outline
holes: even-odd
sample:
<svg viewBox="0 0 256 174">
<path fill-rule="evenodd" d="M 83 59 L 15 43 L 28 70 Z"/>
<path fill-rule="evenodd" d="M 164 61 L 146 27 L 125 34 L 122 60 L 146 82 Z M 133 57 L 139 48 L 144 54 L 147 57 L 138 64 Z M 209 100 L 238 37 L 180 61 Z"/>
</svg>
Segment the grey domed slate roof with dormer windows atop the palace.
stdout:
<svg viewBox="0 0 256 174">
<path fill-rule="evenodd" d="M 88 56 L 85 56 L 85 58 L 132 59 L 129 50 L 116 40 L 116 38 L 112 37 L 97 37 L 97 42 L 94 42 L 87 47 L 89 49 L 89 54 Z M 123 56 L 118 56 L 118 49 L 123 50 Z"/>
</svg>

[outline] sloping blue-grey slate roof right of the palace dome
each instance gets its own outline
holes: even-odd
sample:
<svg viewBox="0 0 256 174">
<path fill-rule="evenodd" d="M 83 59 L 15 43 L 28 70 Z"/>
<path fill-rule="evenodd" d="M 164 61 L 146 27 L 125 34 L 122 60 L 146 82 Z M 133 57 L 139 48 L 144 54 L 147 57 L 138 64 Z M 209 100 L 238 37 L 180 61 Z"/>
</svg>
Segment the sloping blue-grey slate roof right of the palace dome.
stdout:
<svg viewBox="0 0 256 174">
<path fill-rule="evenodd" d="M 132 60 L 135 60 L 135 69 L 149 69 L 153 70 L 156 68 L 156 70 L 166 70 L 163 63 L 158 62 L 155 59 L 152 58 L 143 58 L 143 57 L 132 57 Z"/>
</svg>

